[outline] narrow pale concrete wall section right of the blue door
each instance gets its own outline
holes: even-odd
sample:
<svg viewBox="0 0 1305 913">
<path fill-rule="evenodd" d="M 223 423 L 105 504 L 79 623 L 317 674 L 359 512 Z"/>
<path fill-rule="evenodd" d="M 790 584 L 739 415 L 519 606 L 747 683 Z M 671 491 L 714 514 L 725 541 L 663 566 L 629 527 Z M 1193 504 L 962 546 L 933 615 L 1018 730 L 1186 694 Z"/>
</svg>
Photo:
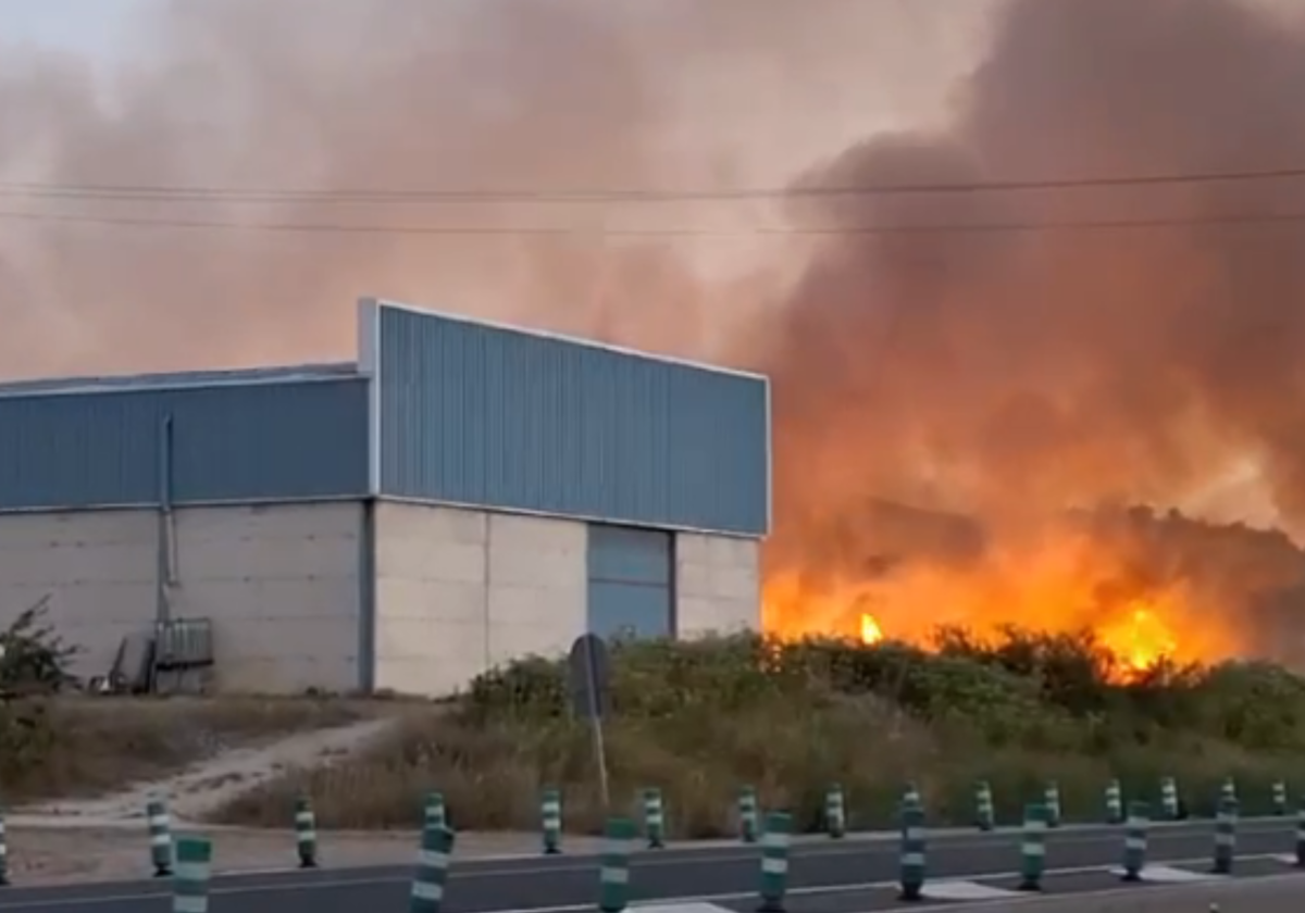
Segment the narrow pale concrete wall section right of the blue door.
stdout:
<svg viewBox="0 0 1305 913">
<path fill-rule="evenodd" d="M 681 532 L 675 537 L 676 634 L 733 634 L 761 626 L 761 543 Z"/>
</svg>

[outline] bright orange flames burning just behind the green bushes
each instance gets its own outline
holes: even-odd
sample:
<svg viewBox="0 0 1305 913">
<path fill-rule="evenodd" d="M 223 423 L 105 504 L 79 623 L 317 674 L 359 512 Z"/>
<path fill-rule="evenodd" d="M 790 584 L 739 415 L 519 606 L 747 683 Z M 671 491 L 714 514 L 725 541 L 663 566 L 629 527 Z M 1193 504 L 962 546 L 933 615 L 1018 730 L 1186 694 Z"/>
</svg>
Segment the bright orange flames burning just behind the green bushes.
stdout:
<svg viewBox="0 0 1305 913">
<path fill-rule="evenodd" d="M 1184 582 L 1138 580 L 1118 556 L 1088 537 L 1058 537 L 994 550 L 946 566 L 917 562 L 861 578 L 773 573 L 765 629 L 784 638 L 885 638 L 929 646 L 940 626 L 977 635 L 1004 625 L 1048 633 L 1091 630 L 1128 670 L 1225 659 L 1236 635 L 1223 630 Z"/>
</svg>

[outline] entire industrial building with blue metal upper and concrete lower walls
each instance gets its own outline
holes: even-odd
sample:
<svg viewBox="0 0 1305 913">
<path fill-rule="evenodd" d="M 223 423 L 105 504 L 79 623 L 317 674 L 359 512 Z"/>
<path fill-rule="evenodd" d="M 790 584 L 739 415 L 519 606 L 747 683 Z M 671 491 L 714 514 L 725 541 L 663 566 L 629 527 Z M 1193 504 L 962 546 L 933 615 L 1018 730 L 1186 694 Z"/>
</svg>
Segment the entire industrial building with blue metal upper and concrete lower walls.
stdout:
<svg viewBox="0 0 1305 913">
<path fill-rule="evenodd" d="M 0 385 L 0 622 L 104 674 L 440 695 L 589 630 L 760 622 L 766 378 L 363 300 L 358 360 Z"/>
</svg>

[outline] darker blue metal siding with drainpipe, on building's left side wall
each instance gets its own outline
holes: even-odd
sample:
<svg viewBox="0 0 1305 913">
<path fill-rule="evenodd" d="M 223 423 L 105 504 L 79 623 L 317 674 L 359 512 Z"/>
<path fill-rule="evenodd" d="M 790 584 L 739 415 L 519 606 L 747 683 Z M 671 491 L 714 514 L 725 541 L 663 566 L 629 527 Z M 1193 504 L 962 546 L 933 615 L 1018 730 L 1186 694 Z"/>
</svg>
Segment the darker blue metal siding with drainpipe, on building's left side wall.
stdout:
<svg viewBox="0 0 1305 913">
<path fill-rule="evenodd" d="M 363 380 L 0 397 L 0 510 L 157 503 L 172 416 L 171 500 L 367 490 Z"/>
</svg>

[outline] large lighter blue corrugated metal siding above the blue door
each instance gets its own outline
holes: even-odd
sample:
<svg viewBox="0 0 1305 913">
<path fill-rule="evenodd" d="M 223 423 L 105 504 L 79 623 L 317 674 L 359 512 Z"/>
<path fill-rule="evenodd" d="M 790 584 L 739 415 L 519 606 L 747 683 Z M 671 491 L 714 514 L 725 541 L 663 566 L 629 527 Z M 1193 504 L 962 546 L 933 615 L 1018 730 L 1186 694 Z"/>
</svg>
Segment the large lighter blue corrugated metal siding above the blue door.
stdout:
<svg viewBox="0 0 1305 913">
<path fill-rule="evenodd" d="M 382 493 L 766 532 L 762 380 L 393 308 L 380 320 Z"/>
</svg>

